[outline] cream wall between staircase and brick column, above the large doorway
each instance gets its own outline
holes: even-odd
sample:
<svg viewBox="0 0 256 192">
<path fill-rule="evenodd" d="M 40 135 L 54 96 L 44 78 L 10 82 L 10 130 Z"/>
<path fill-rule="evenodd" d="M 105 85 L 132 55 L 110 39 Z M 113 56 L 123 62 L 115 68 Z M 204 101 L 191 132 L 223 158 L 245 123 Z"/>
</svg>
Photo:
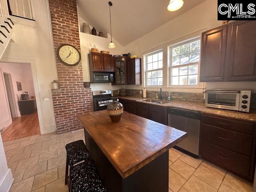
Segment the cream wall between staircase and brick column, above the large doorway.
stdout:
<svg viewBox="0 0 256 192">
<path fill-rule="evenodd" d="M 36 22 L 26 20 L 27 26 L 15 23 L 15 42 L 8 45 L 1 61 L 32 63 L 40 129 L 41 133 L 45 134 L 55 131 L 50 84 L 52 80 L 58 78 L 48 1 L 32 1 L 32 6 Z M 45 101 L 44 98 L 50 98 L 50 100 Z"/>
</svg>

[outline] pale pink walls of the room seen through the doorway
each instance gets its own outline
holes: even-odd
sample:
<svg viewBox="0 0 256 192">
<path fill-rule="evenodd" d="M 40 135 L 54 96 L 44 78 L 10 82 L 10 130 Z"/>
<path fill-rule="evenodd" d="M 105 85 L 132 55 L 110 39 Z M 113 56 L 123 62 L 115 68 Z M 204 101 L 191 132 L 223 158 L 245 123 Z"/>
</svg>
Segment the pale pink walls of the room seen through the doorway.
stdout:
<svg viewBox="0 0 256 192">
<path fill-rule="evenodd" d="M 13 87 L 13 91 L 14 91 L 14 97 L 16 100 L 16 110 L 17 110 L 17 114 L 18 116 L 20 116 L 20 110 L 18 107 L 18 100 L 20 100 L 21 96 L 20 94 L 24 94 L 24 92 L 28 92 L 28 94 L 30 96 L 35 96 L 35 91 L 34 91 L 34 84 L 33 84 L 33 77 L 32 77 L 32 70 L 31 70 L 31 66 L 30 64 L 27 63 L 3 63 L 0 62 L 0 69 L 2 71 L 2 73 L 8 73 L 11 74 L 11 78 L 12 78 L 12 87 Z M 1 86 L 3 86 L 4 82 L 3 80 L 3 74 L 1 74 L 2 78 L 0 79 L 0 84 Z M 16 82 L 21 82 L 21 86 L 22 86 L 22 91 L 18 91 L 17 88 L 17 84 Z M 1 90 L 4 87 L 1 87 Z M 4 90 L 5 91 L 5 90 Z M 3 92 L 4 93 L 4 92 Z M 6 100 L 0 100 L 1 105 L 4 106 L 4 103 L 6 103 Z M 6 103 L 8 105 L 8 103 Z M 9 110 L 6 108 L 4 108 L 3 110 L 1 110 L 1 113 L 4 114 L 4 116 L 6 116 L 8 114 Z M 6 127 L 6 124 L 0 124 L 0 130 L 3 127 Z M 8 126 L 8 125 L 7 125 Z"/>
</svg>

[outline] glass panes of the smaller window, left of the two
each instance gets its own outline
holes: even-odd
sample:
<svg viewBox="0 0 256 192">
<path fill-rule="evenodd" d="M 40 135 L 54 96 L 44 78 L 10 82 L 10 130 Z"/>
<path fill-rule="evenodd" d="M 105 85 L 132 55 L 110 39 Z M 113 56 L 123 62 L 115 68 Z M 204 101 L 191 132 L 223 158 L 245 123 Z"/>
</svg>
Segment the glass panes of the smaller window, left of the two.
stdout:
<svg viewBox="0 0 256 192">
<path fill-rule="evenodd" d="M 146 55 L 146 85 L 163 85 L 163 51 Z"/>
</svg>

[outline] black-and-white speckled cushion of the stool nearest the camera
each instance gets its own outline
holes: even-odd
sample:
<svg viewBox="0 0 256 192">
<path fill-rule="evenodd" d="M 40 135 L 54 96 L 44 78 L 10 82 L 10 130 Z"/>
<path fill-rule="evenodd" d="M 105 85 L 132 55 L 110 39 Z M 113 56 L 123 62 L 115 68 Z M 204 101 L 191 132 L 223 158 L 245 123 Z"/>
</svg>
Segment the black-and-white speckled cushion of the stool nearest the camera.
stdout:
<svg viewBox="0 0 256 192">
<path fill-rule="evenodd" d="M 106 192 L 92 160 L 70 168 L 71 192 Z"/>
</svg>

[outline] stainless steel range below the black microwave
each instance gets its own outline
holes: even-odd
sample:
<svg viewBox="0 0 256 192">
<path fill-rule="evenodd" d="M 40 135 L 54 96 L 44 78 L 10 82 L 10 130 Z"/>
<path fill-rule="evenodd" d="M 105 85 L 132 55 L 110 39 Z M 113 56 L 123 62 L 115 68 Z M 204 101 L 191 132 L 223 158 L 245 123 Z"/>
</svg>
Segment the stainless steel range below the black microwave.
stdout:
<svg viewBox="0 0 256 192">
<path fill-rule="evenodd" d="M 108 105 L 113 102 L 113 98 L 112 90 L 93 91 L 92 100 L 94 111 L 107 109 Z"/>
</svg>

